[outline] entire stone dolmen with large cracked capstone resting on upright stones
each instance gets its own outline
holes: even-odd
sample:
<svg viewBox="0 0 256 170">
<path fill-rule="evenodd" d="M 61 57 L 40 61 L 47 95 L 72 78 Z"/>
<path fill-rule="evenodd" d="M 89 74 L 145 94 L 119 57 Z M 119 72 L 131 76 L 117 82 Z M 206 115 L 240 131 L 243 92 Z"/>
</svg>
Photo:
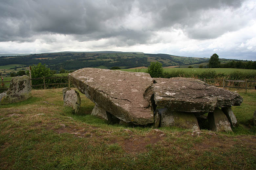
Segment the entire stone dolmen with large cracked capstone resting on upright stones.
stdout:
<svg viewBox="0 0 256 170">
<path fill-rule="evenodd" d="M 237 120 L 231 106 L 243 98 L 193 78 L 151 78 L 147 73 L 83 68 L 69 80 L 95 103 L 92 115 L 120 124 L 200 129 L 206 120 L 214 131 L 231 131 Z"/>
</svg>

